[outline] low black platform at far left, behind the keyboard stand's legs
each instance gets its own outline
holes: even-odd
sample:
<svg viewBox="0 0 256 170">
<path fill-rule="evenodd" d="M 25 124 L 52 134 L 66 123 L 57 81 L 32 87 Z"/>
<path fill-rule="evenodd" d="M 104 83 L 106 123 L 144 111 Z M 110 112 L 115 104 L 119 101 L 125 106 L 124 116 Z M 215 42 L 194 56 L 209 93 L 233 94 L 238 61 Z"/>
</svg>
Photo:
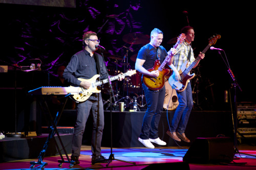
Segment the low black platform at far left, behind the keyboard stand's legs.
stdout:
<svg viewBox="0 0 256 170">
<path fill-rule="evenodd" d="M 68 154 L 71 153 L 71 143 L 73 134 L 60 135 L 61 141 L 65 146 Z M 31 138 L 8 138 L 0 140 L 0 162 L 14 161 L 20 159 L 37 159 L 44 144 L 47 140 L 47 134 L 44 136 L 36 136 Z M 61 150 L 61 154 L 65 154 L 58 140 L 58 137 L 54 136 Z M 54 138 L 51 139 L 45 156 L 59 155 L 55 146 Z M 34 160 L 37 161 L 37 160 Z"/>
</svg>

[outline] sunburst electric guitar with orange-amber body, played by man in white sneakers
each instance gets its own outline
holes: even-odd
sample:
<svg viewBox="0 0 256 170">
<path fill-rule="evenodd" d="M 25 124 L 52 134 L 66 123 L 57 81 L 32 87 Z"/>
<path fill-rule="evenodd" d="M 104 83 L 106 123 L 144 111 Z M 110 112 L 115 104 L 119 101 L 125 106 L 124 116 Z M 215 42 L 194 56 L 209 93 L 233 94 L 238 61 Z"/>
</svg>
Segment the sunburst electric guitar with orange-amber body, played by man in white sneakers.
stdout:
<svg viewBox="0 0 256 170">
<path fill-rule="evenodd" d="M 178 37 L 178 40 L 177 40 L 176 44 L 174 45 L 174 48 L 177 48 L 177 46 L 179 44 L 181 44 L 185 38 L 186 38 L 185 34 L 182 33 Z M 148 69 L 148 71 L 150 71 L 150 72 L 154 71 L 154 70 L 158 70 L 159 71 L 158 77 L 143 75 L 142 80 L 148 88 L 150 88 L 151 90 L 159 90 L 159 89 L 163 88 L 164 83 L 165 83 L 165 76 L 169 73 L 169 69 L 164 68 L 164 66 L 168 62 L 168 60 L 172 57 L 173 57 L 173 54 L 170 53 L 167 57 L 165 57 L 165 59 L 161 65 L 160 65 L 160 61 L 156 60 L 154 63 L 154 67 Z"/>
</svg>

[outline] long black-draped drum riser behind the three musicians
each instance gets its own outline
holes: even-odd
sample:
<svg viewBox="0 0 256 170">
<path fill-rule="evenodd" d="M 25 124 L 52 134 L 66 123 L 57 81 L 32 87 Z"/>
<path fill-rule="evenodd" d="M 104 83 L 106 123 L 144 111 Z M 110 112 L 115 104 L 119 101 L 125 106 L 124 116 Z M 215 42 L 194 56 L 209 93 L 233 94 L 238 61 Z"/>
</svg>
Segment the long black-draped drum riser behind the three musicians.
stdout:
<svg viewBox="0 0 256 170">
<path fill-rule="evenodd" d="M 63 112 L 65 113 L 65 112 Z M 166 114 L 168 113 L 168 114 Z M 112 112 L 112 132 L 113 147 L 117 148 L 133 148 L 144 147 L 138 137 L 141 132 L 145 112 Z M 168 122 L 172 120 L 174 111 L 162 112 L 159 124 L 159 137 L 167 143 L 167 146 L 177 146 L 175 141 L 170 138 L 166 131 L 168 130 Z M 101 145 L 103 147 L 111 146 L 110 131 L 110 112 L 104 112 L 104 130 Z M 91 143 L 91 127 L 92 120 L 87 122 L 86 131 L 83 134 L 83 144 Z M 233 137 L 231 113 L 226 111 L 193 111 L 190 114 L 186 135 L 191 143 L 198 137 L 216 137 L 219 134 Z M 184 141 L 178 142 L 180 145 L 190 145 Z M 156 145 L 157 146 L 157 145 Z"/>
</svg>

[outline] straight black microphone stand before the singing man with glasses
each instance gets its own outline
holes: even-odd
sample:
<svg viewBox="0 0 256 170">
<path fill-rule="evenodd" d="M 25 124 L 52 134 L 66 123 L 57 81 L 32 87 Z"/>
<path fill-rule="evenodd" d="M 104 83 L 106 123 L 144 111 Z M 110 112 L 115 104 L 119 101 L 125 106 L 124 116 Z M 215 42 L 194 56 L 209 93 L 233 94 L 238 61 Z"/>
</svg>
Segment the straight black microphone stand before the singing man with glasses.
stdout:
<svg viewBox="0 0 256 170">
<path fill-rule="evenodd" d="M 101 56 L 103 58 L 103 62 L 105 63 L 105 60 L 104 60 L 102 52 L 101 52 Z M 109 76 L 109 73 L 108 73 L 108 69 L 106 68 L 106 64 L 104 64 L 104 66 L 105 66 L 105 70 L 106 70 L 106 75 L 108 76 L 108 79 L 109 79 L 108 84 L 109 84 L 109 87 L 110 87 L 111 95 L 113 96 L 114 102 L 116 103 L 115 95 L 114 95 L 114 92 L 113 92 L 113 89 L 112 89 L 112 85 L 111 85 L 111 81 L 110 81 L 110 76 Z M 128 162 L 128 161 L 124 161 L 124 160 L 120 160 L 120 159 L 115 159 L 114 154 L 112 152 L 112 150 L 113 150 L 113 147 L 112 147 L 112 145 L 113 145 L 113 137 L 112 137 L 112 100 L 111 100 L 111 96 L 110 96 L 110 134 L 111 134 L 110 135 L 110 139 L 111 139 L 110 151 L 111 151 L 111 154 L 109 156 L 109 163 L 106 164 L 106 166 L 109 166 L 109 164 L 113 160 L 136 164 L 135 162 Z"/>
</svg>

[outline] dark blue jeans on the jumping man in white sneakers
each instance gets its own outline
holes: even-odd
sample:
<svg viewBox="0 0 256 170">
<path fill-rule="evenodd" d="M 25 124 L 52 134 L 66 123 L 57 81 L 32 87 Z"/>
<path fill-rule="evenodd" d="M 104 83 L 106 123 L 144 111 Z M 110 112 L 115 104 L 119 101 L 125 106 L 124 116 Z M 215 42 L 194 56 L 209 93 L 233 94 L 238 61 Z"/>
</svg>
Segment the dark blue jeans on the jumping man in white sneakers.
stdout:
<svg viewBox="0 0 256 170">
<path fill-rule="evenodd" d="M 141 139 L 158 138 L 158 125 L 163 111 L 165 86 L 160 90 L 151 90 L 142 83 L 147 109 L 141 128 Z"/>
</svg>

